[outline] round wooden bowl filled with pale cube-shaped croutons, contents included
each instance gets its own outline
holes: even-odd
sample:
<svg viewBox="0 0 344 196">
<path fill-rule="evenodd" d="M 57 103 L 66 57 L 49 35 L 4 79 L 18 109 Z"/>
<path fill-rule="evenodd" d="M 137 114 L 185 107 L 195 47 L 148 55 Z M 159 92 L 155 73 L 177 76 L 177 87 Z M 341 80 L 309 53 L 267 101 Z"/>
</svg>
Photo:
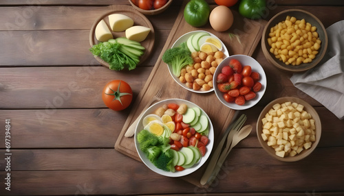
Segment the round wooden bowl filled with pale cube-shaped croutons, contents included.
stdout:
<svg viewBox="0 0 344 196">
<path fill-rule="evenodd" d="M 281 97 L 268 103 L 257 121 L 257 137 L 268 154 L 294 162 L 309 156 L 321 138 L 321 121 L 309 103 Z"/>
</svg>

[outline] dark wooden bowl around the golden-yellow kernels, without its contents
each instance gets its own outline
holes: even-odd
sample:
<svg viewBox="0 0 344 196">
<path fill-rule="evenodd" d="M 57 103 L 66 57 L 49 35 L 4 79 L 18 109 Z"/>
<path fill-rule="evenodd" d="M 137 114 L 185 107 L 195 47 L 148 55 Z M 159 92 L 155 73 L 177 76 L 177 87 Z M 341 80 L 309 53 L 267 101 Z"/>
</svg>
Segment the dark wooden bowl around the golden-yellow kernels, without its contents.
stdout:
<svg viewBox="0 0 344 196">
<path fill-rule="evenodd" d="M 312 26 L 316 27 L 316 32 L 319 34 L 319 38 L 321 40 L 321 47 L 318 50 L 319 53 L 316 54 L 316 57 L 312 60 L 312 62 L 301 63 L 296 66 L 292 66 L 291 64 L 287 65 L 281 60 L 275 58 L 275 55 L 273 53 L 270 53 L 271 47 L 268 45 L 270 29 L 271 27 L 277 25 L 279 22 L 285 21 L 286 16 L 294 16 L 295 18 L 297 18 L 297 20 L 305 19 L 306 23 L 310 23 Z M 323 56 L 325 55 L 327 49 L 327 44 L 327 33 L 325 27 L 323 26 L 323 23 L 321 23 L 321 21 L 317 19 L 316 16 L 304 10 L 292 9 L 279 12 L 279 14 L 276 14 L 272 17 L 272 19 L 270 19 L 270 21 L 268 21 L 266 27 L 264 28 L 263 35 L 261 36 L 261 48 L 263 49 L 264 56 L 266 57 L 268 62 L 277 66 L 277 68 L 279 69 L 292 72 L 306 71 L 316 66 L 316 64 L 318 64 L 323 59 Z"/>
</svg>

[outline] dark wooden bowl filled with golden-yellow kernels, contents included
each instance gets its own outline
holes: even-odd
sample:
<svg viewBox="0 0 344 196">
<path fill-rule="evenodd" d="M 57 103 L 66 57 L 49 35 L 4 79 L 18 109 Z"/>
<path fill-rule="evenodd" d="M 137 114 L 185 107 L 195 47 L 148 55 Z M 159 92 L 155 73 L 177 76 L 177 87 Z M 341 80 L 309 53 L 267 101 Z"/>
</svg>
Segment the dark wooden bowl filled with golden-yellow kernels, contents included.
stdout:
<svg viewBox="0 0 344 196">
<path fill-rule="evenodd" d="M 313 68 L 325 56 L 326 29 L 319 19 L 304 10 L 284 10 L 268 21 L 261 38 L 267 60 L 285 71 Z"/>
</svg>

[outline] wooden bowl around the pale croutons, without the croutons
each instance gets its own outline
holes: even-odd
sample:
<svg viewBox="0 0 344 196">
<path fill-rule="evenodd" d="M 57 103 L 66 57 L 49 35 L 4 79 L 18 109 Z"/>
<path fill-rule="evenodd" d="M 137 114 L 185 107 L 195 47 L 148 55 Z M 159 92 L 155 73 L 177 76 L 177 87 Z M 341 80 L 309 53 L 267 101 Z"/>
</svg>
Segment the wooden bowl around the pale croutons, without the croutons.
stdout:
<svg viewBox="0 0 344 196">
<path fill-rule="evenodd" d="M 290 102 L 295 102 L 295 103 L 299 103 L 302 104 L 304 106 L 303 110 L 305 110 L 306 112 L 310 113 L 312 115 L 312 119 L 314 119 L 315 121 L 315 141 L 312 143 L 312 146 L 309 149 L 303 149 L 303 151 L 301 151 L 300 154 L 297 154 L 295 156 L 285 156 L 284 158 L 281 158 L 279 156 L 276 155 L 276 151 L 275 149 L 273 149 L 272 147 L 268 146 L 267 141 L 264 141 L 263 138 L 261 137 L 261 134 L 263 133 L 263 123 L 261 121 L 261 119 L 263 119 L 266 115 L 266 113 L 272 108 L 272 106 L 274 106 L 276 103 L 285 103 L 287 101 Z M 301 160 L 307 156 L 309 156 L 312 151 L 314 151 L 314 149 L 316 148 L 316 146 L 319 143 L 319 140 L 321 138 L 321 121 L 319 118 L 318 113 L 316 112 L 316 110 L 314 110 L 314 108 L 312 106 L 310 106 L 309 103 L 303 101 L 302 99 L 299 99 L 297 97 L 281 97 L 278 99 L 275 99 L 274 101 L 271 101 L 270 103 L 268 103 L 268 105 L 261 111 L 261 113 L 259 114 L 258 117 L 258 121 L 257 121 L 257 137 L 259 140 L 259 143 L 261 144 L 261 147 L 264 148 L 264 150 L 266 152 L 268 152 L 268 154 L 274 158 L 277 158 L 278 160 L 281 161 L 285 161 L 285 162 L 294 162 L 297 160 Z"/>
</svg>

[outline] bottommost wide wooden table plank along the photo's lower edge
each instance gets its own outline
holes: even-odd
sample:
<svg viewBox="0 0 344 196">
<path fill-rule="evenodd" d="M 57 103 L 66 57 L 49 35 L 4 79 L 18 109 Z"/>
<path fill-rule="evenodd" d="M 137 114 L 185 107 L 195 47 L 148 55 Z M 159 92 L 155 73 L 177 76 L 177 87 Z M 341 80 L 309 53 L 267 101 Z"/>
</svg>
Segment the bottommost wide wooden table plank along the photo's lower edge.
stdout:
<svg viewBox="0 0 344 196">
<path fill-rule="evenodd" d="M 343 157 L 343 147 L 317 148 L 304 160 L 285 163 L 270 158 L 261 148 L 233 149 L 215 183 L 197 188 L 180 178 L 153 173 L 114 149 L 14 150 L 12 168 L 18 169 L 11 171 L 11 194 L 52 195 L 56 191 L 72 195 L 78 185 L 95 195 L 236 193 L 243 186 L 250 193 L 343 192 L 343 177 L 334 175 L 344 172 Z M 42 180 L 44 184 L 39 183 Z"/>
</svg>

